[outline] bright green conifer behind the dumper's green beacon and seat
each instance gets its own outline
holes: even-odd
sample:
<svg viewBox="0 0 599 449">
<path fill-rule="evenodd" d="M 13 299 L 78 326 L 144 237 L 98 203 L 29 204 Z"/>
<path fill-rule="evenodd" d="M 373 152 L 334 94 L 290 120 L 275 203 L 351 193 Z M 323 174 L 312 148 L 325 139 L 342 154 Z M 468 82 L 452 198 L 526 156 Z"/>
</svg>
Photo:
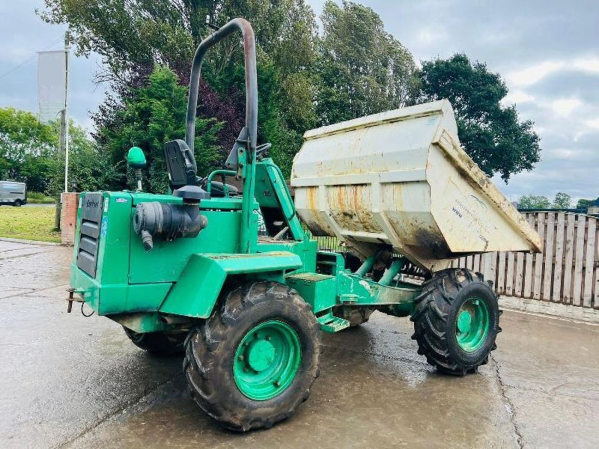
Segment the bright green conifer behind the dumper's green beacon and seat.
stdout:
<svg viewBox="0 0 599 449">
<path fill-rule="evenodd" d="M 164 144 L 185 135 L 187 109 L 186 88 L 178 83 L 169 68 L 156 66 L 146 87 L 132 89 L 120 108 L 113 110 L 108 126 L 98 129 L 102 151 L 110 155 L 111 164 L 120 167 L 120 177 L 113 189 L 133 187 L 126 173 L 125 159 L 129 148 L 140 147 L 148 162 L 145 189 L 164 193 L 168 187 Z M 216 145 L 222 124 L 216 119 L 196 120 L 195 156 L 198 174 L 207 174 L 220 166 L 220 148 Z"/>
</svg>

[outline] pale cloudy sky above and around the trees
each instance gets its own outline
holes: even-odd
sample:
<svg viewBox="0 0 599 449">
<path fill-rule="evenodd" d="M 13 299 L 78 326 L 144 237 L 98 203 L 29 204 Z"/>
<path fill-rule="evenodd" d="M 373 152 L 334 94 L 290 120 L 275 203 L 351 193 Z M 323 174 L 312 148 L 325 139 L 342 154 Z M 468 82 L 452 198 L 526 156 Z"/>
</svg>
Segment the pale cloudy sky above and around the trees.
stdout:
<svg viewBox="0 0 599 449">
<path fill-rule="evenodd" d="M 322 0 L 308 0 L 320 13 Z M 515 200 L 556 192 L 599 196 L 599 1 L 363 0 L 416 60 L 464 52 L 506 80 L 507 104 L 531 119 L 542 161 L 506 186 Z M 42 0 L 0 2 L 0 106 L 37 111 L 35 51 L 57 50 L 64 29 L 35 16 Z M 73 58 L 72 117 L 90 127 L 104 86 L 93 84 L 98 57 Z"/>
</svg>

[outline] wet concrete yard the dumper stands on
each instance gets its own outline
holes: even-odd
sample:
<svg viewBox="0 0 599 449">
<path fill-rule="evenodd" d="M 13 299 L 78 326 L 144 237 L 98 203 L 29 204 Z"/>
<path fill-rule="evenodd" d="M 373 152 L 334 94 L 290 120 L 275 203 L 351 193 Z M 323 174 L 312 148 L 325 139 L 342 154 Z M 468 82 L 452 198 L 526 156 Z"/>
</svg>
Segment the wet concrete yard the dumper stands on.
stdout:
<svg viewBox="0 0 599 449">
<path fill-rule="evenodd" d="M 297 414 L 244 435 L 190 400 L 177 357 L 66 314 L 70 248 L 0 241 L 0 447 L 597 447 L 599 326 L 506 312 L 479 374 L 437 374 L 407 318 L 323 335 Z"/>
</svg>

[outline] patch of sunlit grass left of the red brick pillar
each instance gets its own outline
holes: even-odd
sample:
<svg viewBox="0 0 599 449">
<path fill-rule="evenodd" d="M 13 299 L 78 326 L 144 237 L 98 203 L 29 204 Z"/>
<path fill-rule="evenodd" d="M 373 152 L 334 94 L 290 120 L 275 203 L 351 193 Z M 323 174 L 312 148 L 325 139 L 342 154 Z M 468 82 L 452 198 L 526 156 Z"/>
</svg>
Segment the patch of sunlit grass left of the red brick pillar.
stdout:
<svg viewBox="0 0 599 449">
<path fill-rule="evenodd" d="M 53 207 L 0 206 L 0 237 L 60 243 Z"/>
</svg>

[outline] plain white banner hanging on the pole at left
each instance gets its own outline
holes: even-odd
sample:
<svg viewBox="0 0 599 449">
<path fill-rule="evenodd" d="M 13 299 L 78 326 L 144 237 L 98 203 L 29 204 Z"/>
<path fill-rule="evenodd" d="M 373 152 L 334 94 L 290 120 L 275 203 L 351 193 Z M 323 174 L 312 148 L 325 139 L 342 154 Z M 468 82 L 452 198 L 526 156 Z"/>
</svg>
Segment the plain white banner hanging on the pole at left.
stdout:
<svg viewBox="0 0 599 449">
<path fill-rule="evenodd" d="M 38 103 L 40 122 L 59 118 L 65 107 L 66 53 L 64 50 L 38 52 Z"/>
</svg>

